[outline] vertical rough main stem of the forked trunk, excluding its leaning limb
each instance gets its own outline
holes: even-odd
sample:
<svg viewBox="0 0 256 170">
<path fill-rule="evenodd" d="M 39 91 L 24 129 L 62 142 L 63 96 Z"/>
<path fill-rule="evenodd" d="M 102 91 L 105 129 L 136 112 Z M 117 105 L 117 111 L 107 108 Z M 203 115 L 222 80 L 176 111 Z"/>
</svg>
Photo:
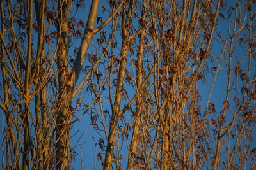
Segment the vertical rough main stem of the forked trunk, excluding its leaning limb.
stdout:
<svg viewBox="0 0 256 170">
<path fill-rule="evenodd" d="M 59 1 L 58 9 L 58 83 L 59 98 L 56 120 L 56 169 L 70 169 L 70 129 L 72 81 L 68 67 L 68 15 L 72 1 Z"/>
</svg>

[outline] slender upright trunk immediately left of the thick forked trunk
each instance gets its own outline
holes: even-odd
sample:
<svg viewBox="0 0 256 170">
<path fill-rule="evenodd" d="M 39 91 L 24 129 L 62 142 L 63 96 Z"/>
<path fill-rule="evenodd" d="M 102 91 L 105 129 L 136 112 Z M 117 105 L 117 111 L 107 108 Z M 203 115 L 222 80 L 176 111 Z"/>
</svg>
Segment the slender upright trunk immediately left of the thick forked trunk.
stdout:
<svg viewBox="0 0 256 170">
<path fill-rule="evenodd" d="M 44 46 L 44 18 L 45 18 L 45 1 L 35 1 L 36 10 L 36 21 L 38 24 L 38 43 L 36 60 L 34 62 L 37 70 L 35 71 L 35 80 L 37 80 L 37 88 L 40 89 L 35 95 L 35 111 L 36 111 L 36 136 L 37 136 L 37 168 L 38 169 L 49 169 L 49 136 L 47 133 L 48 117 L 46 111 L 46 86 L 43 85 L 45 62 L 42 62 L 45 57 L 45 46 Z M 39 63 L 39 64 L 38 64 Z"/>
</svg>

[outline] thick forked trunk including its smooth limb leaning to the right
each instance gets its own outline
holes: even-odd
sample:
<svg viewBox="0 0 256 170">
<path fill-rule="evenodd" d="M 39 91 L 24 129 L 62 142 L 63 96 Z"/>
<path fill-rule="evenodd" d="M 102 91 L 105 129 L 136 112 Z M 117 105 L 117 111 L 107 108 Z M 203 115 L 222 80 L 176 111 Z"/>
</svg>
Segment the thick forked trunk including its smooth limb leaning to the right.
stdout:
<svg viewBox="0 0 256 170">
<path fill-rule="evenodd" d="M 63 1 L 59 3 L 58 32 L 60 32 L 59 45 L 63 48 L 58 52 L 58 69 L 60 69 L 59 76 L 59 113 L 57 116 L 57 135 L 56 135 L 56 164 L 57 169 L 70 168 L 70 128 L 72 122 L 71 103 L 72 92 L 74 86 L 81 73 L 84 57 L 88 49 L 90 40 L 93 37 L 93 26 L 97 14 L 97 7 L 99 1 L 92 1 L 86 29 L 84 31 L 83 40 L 79 47 L 74 66 L 70 71 L 68 68 L 68 14 L 70 11 L 72 1 Z"/>
</svg>

